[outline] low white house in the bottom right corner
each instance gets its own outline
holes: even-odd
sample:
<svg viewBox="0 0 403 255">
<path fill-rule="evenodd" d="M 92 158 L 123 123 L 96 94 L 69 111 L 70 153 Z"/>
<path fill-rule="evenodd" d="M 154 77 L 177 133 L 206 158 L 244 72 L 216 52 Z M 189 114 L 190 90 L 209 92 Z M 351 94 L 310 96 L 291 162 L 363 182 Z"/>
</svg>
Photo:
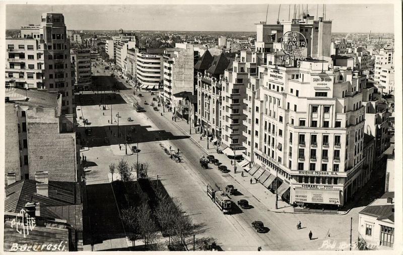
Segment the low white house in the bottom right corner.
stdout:
<svg viewBox="0 0 403 255">
<path fill-rule="evenodd" d="M 393 249 L 394 192 L 386 192 L 359 212 L 359 243 L 368 249 Z"/>
</svg>

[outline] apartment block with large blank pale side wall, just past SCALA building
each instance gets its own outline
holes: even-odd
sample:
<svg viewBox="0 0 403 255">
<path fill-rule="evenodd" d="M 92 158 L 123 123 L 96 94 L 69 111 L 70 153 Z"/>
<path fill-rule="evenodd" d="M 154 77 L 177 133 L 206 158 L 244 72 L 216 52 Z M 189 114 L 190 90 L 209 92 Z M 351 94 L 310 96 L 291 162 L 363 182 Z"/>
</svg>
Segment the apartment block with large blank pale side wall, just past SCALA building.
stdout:
<svg viewBox="0 0 403 255">
<path fill-rule="evenodd" d="M 164 51 L 164 93 L 163 102 L 173 105 L 173 95 L 193 92 L 194 50 L 192 44 L 176 43 L 175 48 Z"/>
</svg>

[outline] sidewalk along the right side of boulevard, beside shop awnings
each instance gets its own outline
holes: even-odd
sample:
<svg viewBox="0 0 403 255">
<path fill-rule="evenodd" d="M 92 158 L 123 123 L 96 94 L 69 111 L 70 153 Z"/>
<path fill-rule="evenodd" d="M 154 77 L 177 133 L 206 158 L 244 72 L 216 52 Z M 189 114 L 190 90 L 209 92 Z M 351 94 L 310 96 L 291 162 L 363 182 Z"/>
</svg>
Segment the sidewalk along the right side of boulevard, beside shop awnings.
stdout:
<svg viewBox="0 0 403 255">
<path fill-rule="evenodd" d="M 163 116 L 167 118 L 169 121 L 172 121 L 172 112 L 165 112 L 163 113 Z M 243 193 L 245 193 L 245 191 L 249 192 L 269 211 L 294 213 L 293 207 L 288 203 L 282 201 L 280 197 L 279 200 L 277 201 L 278 209 L 276 209 L 276 194 L 273 194 L 270 190 L 266 189 L 260 183 L 255 183 L 254 178 L 246 172 L 244 172 L 244 177 L 241 177 L 240 169 L 242 169 L 242 167 L 240 165 L 237 165 L 237 172 L 235 174 L 234 165 L 233 164 L 231 165 L 231 159 L 229 159 L 225 154 L 217 153 L 217 147 L 214 146 L 213 143 L 210 143 L 209 149 L 207 149 L 207 139 L 205 137 L 200 141 L 200 134 L 196 133 L 194 128 L 192 128 L 191 134 L 189 134 L 189 124 L 186 123 L 186 120 L 176 119 L 176 122 L 175 121 L 172 122 L 182 132 L 184 132 L 186 135 L 189 135 L 190 139 L 195 144 L 197 144 L 197 146 L 202 148 L 206 152 L 206 154 L 214 155 L 214 157 L 220 160 L 220 162 L 222 162 L 223 165 L 226 165 L 230 170 L 228 174 L 238 183 L 238 185 L 235 184 L 235 186 L 239 187 L 240 185 L 240 187 L 237 188 L 241 190 Z M 213 167 L 217 168 L 217 166 L 214 165 Z M 251 178 L 253 180 L 252 184 L 250 183 Z"/>
</svg>

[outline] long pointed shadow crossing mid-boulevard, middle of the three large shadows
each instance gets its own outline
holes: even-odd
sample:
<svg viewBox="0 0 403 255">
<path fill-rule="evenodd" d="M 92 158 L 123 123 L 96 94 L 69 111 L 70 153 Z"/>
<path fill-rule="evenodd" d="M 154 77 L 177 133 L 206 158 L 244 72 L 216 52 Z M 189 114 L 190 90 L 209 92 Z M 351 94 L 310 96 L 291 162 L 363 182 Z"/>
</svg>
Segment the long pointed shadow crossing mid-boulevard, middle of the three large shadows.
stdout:
<svg viewBox="0 0 403 255">
<path fill-rule="evenodd" d="M 171 132 L 166 132 L 165 130 L 153 130 L 148 131 L 147 128 L 150 126 L 141 125 L 119 125 L 120 137 L 117 137 L 117 125 L 114 126 L 102 126 L 102 127 L 91 127 L 92 135 L 85 134 L 85 127 L 77 127 L 77 132 L 81 133 L 80 143 L 89 147 L 100 147 L 114 144 L 121 144 L 124 146 L 124 134 L 128 136 L 128 145 L 136 145 L 136 143 L 151 142 L 151 141 L 163 141 L 163 140 L 177 140 L 177 139 L 187 139 L 189 136 L 185 135 L 173 135 Z M 135 131 L 131 131 L 131 130 Z M 105 137 L 109 138 L 109 141 L 105 141 Z M 130 138 L 129 138 L 130 137 Z"/>
</svg>

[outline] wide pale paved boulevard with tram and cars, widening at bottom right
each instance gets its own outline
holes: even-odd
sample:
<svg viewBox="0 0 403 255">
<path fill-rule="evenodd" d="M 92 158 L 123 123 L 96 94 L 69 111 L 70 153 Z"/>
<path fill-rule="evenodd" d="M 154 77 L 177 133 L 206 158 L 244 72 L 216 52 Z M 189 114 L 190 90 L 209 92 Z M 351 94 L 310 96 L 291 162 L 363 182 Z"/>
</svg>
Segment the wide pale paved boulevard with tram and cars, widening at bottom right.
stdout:
<svg viewBox="0 0 403 255">
<path fill-rule="evenodd" d="M 112 82 L 115 82 L 113 78 L 107 76 L 109 73 L 100 71 L 95 74 L 99 76 L 97 82 L 103 88 L 110 88 Z M 123 86 L 124 81 L 118 80 L 121 82 L 120 86 Z M 111 100 L 115 103 L 107 105 L 106 110 L 102 110 L 102 105 L 100 107 L 97 100 L 94 100 L 95 103 L 92 104 L 78 106 L 80 109 L 78 116 L 88 119 L 91 123 L 89 126 L 93 128 L 93 135 L 86 136 L 83 122 L 80 122 L 82 138 L 89 140 L 90 144 L 89 150 L 86 148 L 82 151 L 89 161 L 89 167 L 86 169 L 87 185 L 109 182 L 108 165 L 125 155 L 125 148 L 122 146 L 120 150 L 119 142 L 123 144 L 125 131 L 127 133 L 129 127 L 134 126 L 136 132 L 132 133 L 133 142 L 139 142 L 141 149 L 139 160 L 149 163 L 149 176 L 158 175 L 169 195 L 180 199 L 184 210 L 191 215 L 193 222 L 205 224 L 205 231 L 196 235 L 196 238 L 215 238 L 224 250 L 256 250 L 258 246 L 261 246 L 262 250 L 317 250 L 320 248 L 346 250 L 348 247 L 339 245 L 350 241 L 350 217 L 353 217 L 353 242 L 357 239 L 358 211 L 363 207 L 353 208 L 347 215 L 273 212 L 275 195 L 260 184 L 251 185 L 247 175 L 242 178 L 240 172 L 235 175 L 233 172 L 223 174 L 217 170 L 216 166 L 211 169 L 201 168 L 198 160 L 201 155 L 206 155 L 206 152 L 197 145 L 196 139 L 199 135 L 193 134 L 194 129 L 192 135 L 189 135 L 186 122 L 174 123 L 171 120 L 171 113 L 163 113 L 161 116 L 162 108 L 154 111 L 151 106 L 145 105 L 145 101 L 152 102 L 152 96 L 148 92 L 140 93 L 144 97 L 133 96 L 133 90 L 129 89 L 129 86 L 125 90 L 121 88 L 120 93 L 116 93 L 116 99 Z M 92 92 L 84 94 L 87 94 L 85 97 L 98 98 L 98 100 L 100 97 Z M 106 94 L 113 95 L 110 91 Z M 146 112 L 138 113 L 133 110 L 132 103 L 136 101 L 145 107 Z M 119 118 L 121 137 L 117 137 L 117 113 L 121 116 Z M 128 117 L 133 121 L 127 121 Z M 111 118 L 112 125 L 110 125 Z M 190 136 L 193 139 L 190 139 Z M 109 143 L 104 142 L 105 137 L 109 138 Z M 168 149 L 171 146 L 172 150 L 179 148 L 183 162 L 177 163 L 171 160 L 162 146 Z M 201 141 L 201 146 L 206 147 L 206 140 Z M 129 148 L 127 149 L 129 155 L 124 157 L 131 165 L 132 162 L 136 162 L 137 155 L 132 154 Z M 225 155 L 220 154 L 217 157 L 231 168 L 229 159 L 225 158 Z M 228 160 L 227 163 L 225 160 Z M 220 186 L 233 184 L 241 194 L 231 196 L 232 199 L 235 202 L 239 199 L 247 199 L 253 208 L 238 209 L 236 210 L 238 213 L 223 215 L 207 196 L 207 184 Z M 280 210 L 287 211 L 287 206 L 279 201 Z M 250 226 L 253 220 L 261 220 L 270 231 L 256 233 Z M 298 221 L 302 222 L 303 227 L 299 230 L 296 229 Z M 310 230 L 313 232 L 313 240 L 308 238 Z M 323 247 L 324 242 L 335 242 L 336 246 Z"/>
</svg>

